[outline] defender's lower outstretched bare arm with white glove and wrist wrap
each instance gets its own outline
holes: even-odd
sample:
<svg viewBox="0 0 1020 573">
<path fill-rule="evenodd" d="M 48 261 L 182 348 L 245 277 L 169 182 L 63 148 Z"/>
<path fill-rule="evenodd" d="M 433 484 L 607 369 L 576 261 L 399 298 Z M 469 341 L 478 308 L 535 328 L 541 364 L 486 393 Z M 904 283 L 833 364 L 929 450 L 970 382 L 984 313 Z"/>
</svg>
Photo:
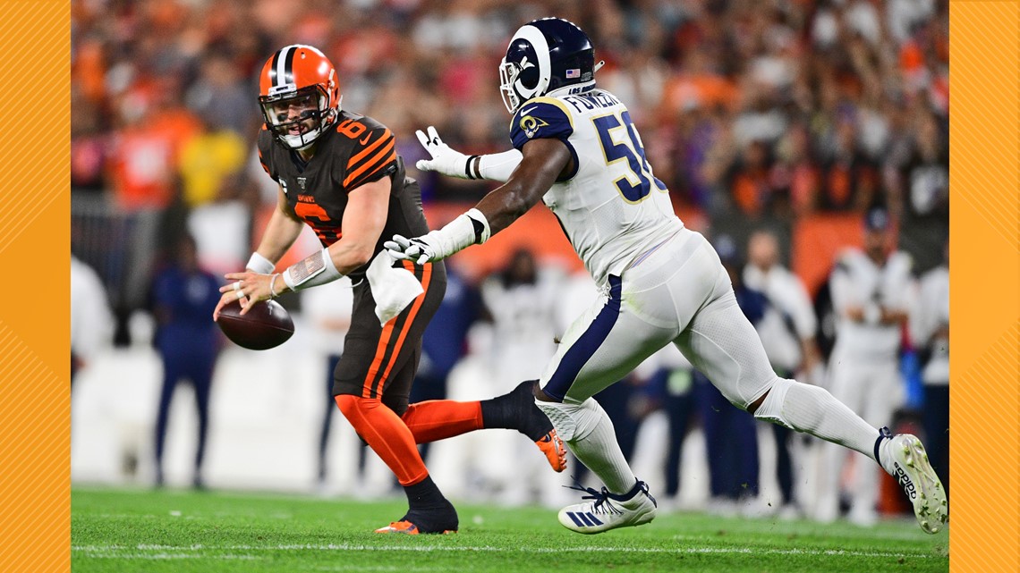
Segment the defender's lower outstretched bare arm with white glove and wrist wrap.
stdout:
<svg viewBox="0 0 1020 573">
<path fill-rule="evenodd" d="M 568 172 L 573 158 L 558 139 L 537 139 L 522 148 L 522 159 L 507 183 L 478 202 L 474 208 L 441 229 L 407 239 L 394 236 L 387 249 L 398 259 L 428 261 L 445 259 L 469 245 L 481 244 L 510 226 L 527 212 L 561 173 Z"/>
</svg>

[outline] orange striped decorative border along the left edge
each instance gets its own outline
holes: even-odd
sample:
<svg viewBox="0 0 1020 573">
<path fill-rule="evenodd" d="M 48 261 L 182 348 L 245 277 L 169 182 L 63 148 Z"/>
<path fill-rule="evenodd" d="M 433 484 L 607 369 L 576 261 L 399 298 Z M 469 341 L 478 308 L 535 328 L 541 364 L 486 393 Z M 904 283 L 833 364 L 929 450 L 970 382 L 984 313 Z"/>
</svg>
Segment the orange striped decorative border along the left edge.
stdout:
<svg viewBox="0 0 1020 573">
<path fill-rule="evenodd" d="M 70 2 L 0 13 L 0 571 L 68 571 Z"/>
</svg>

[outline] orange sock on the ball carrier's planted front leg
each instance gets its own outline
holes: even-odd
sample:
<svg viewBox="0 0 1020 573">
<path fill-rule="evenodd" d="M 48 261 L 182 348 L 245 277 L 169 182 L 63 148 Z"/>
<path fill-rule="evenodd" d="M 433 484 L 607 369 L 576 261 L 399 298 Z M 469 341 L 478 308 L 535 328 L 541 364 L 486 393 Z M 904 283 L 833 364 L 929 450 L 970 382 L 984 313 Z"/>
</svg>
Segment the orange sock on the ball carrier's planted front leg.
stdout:
<svg viewBox="0 0 1020 573">
<path fill-rule="evenodd" d="M 342 394 L 334 399 L 354 430 L 386 462 L 401 485 L 412 485 L 428 477 L 414 435 L 393 410 L 378 400 L 359 396 Z"/>
</svg>

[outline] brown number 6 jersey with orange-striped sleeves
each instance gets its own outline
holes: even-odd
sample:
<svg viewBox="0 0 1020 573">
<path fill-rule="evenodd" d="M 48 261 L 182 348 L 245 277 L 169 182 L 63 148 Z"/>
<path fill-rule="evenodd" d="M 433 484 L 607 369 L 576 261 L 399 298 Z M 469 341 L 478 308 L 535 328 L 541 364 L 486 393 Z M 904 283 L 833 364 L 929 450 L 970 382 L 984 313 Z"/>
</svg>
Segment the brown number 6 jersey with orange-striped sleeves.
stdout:
<svg viewBox="0 0 1020 573">
<path fill-rule="evenodd" d="M 258 137 L 262 167 L 284 188 L 288 208 L 312 227 L 324 247 L 344 235 L 342 222 L 347 194 L 382 177 L 390 177 L 390 209 L 375 252 L 394 235 L 418 237 L 428 232 L 417 183 L 404 173 L 404 162 L 394 148 L 393 133 L 371 117 L 341 111 L 333 127 L 319 136 L 315 155 L 307 162 L 263 128 Z M 351 272 L 357 281 L 368 265 Z"/>
</svg>

